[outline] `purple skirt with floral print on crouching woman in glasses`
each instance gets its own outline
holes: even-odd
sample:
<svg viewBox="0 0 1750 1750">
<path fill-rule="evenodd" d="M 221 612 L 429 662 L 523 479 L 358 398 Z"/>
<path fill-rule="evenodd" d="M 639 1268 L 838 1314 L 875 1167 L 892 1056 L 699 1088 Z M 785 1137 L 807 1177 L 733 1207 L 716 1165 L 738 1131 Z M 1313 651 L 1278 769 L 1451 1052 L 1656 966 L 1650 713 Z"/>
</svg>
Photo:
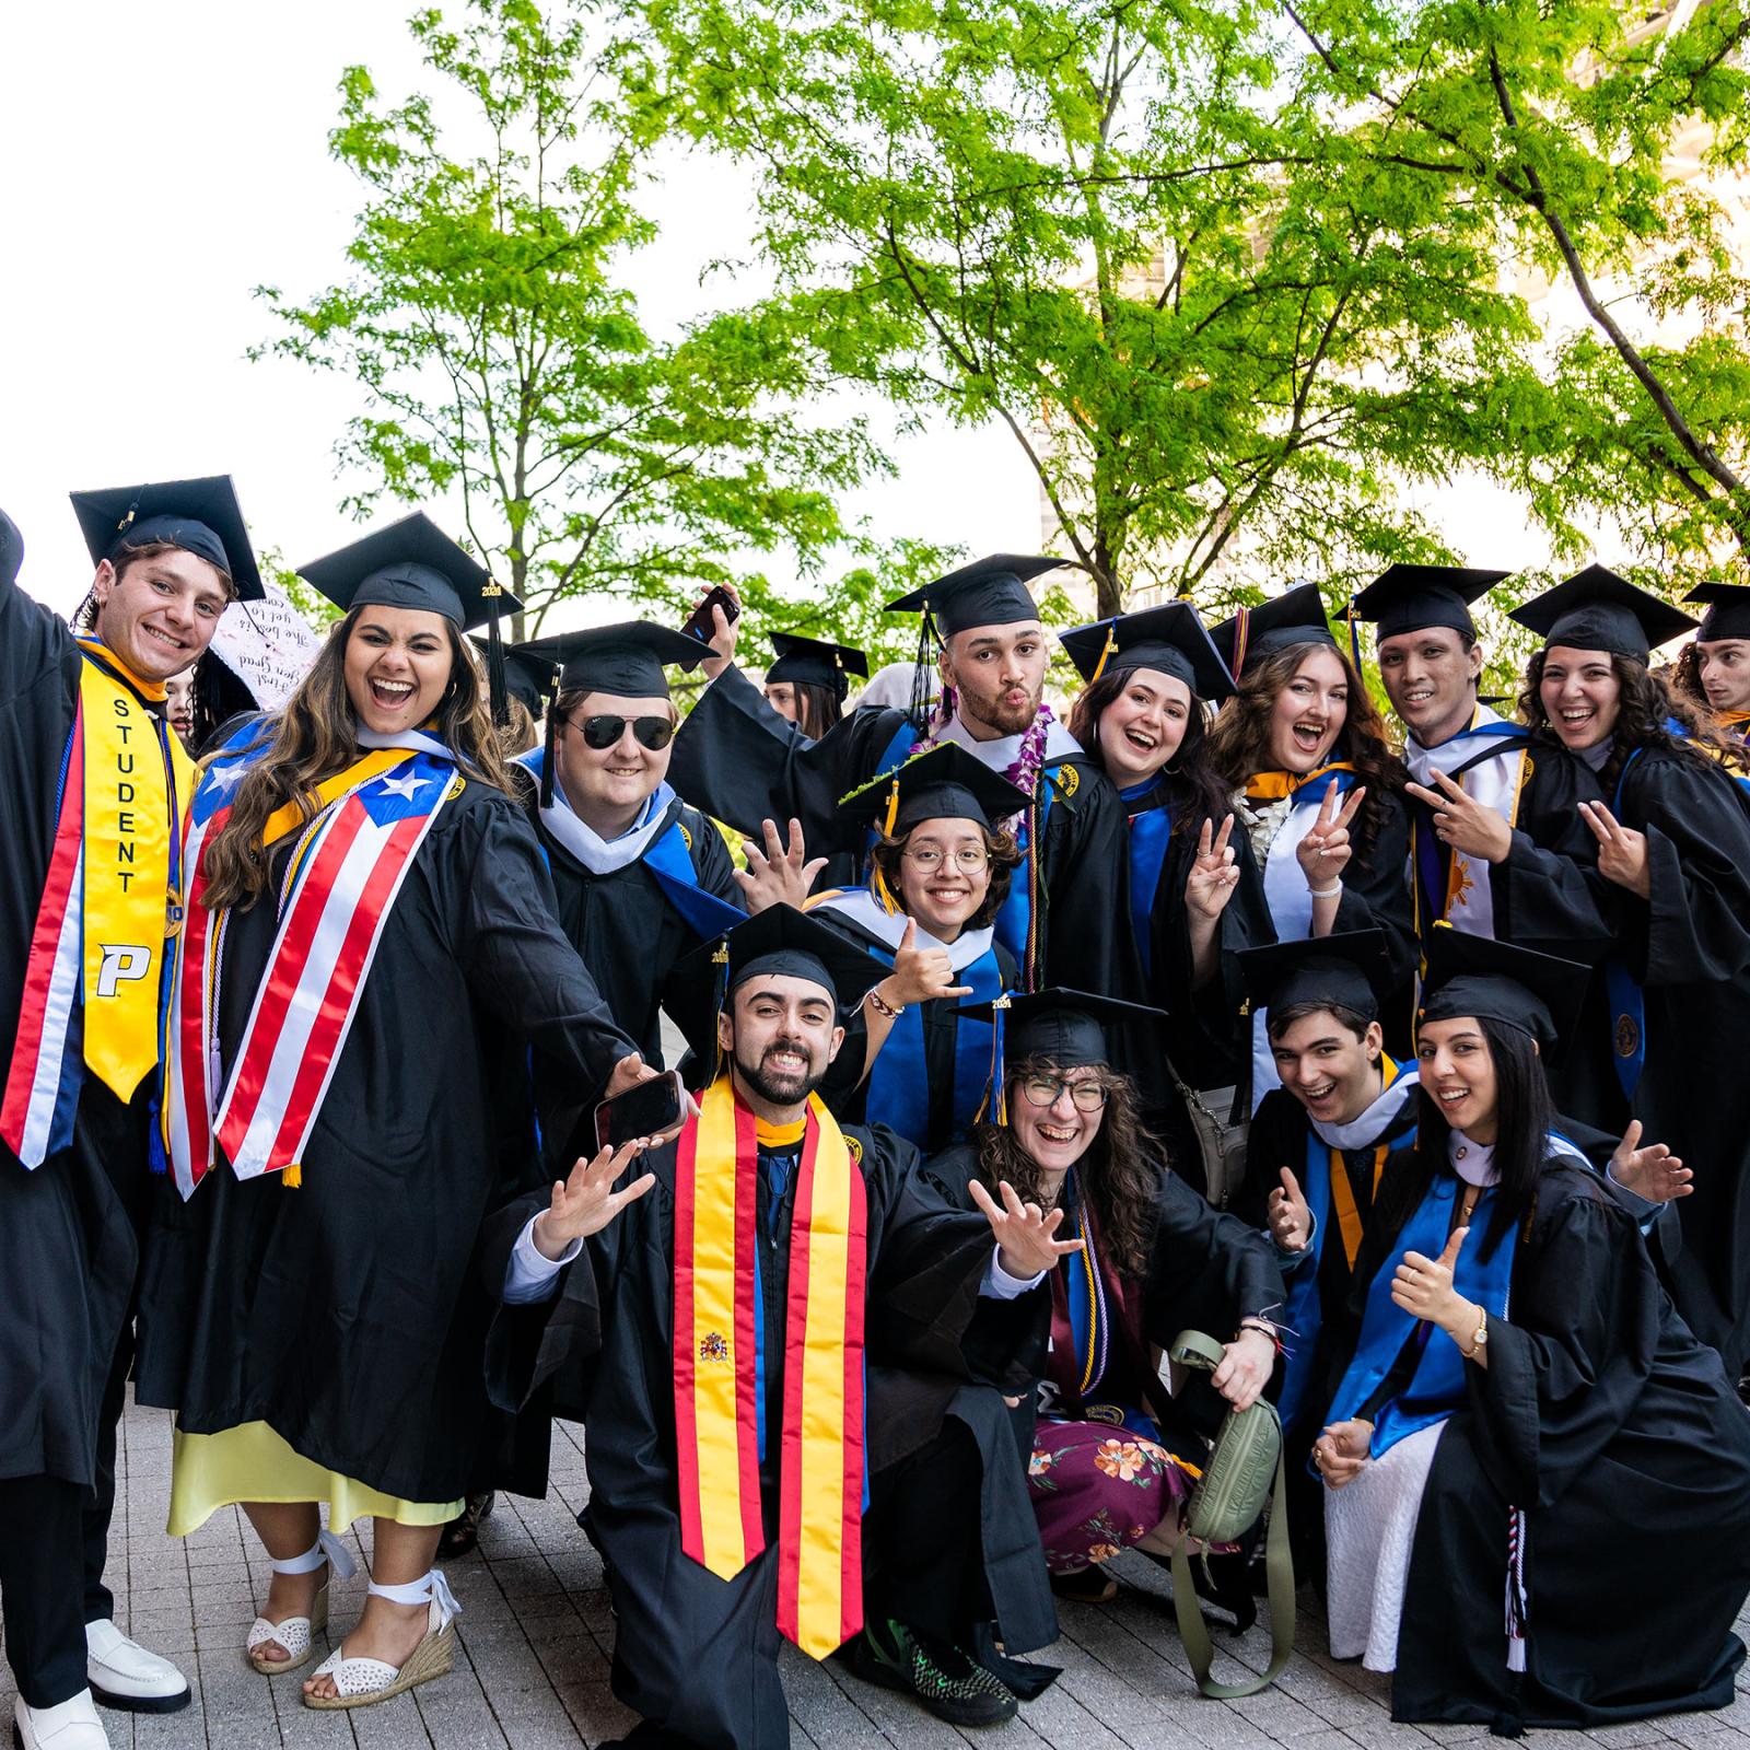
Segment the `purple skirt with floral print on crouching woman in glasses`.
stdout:
<svg viewBox="0 0 1750 1750">
<path fill-rule="evenodd" d="M 1041 1421 L 1027 1493 L 1045 1564 L 1076 1573 L 1139 1544 L 1180 1517 L 1200 1472 L 1132 1428 L 1102 1421 Z"/>
</svg>

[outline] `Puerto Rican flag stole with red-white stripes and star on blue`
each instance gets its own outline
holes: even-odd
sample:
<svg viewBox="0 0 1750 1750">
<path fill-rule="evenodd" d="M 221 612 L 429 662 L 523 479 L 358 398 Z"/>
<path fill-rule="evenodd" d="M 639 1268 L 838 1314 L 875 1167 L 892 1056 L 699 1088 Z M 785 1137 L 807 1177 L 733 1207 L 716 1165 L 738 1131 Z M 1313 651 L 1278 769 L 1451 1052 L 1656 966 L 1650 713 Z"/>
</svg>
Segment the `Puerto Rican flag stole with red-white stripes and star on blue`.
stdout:
<svg viewBox="0 0 1750 1750">
<path fill-rule="evenodd" d="M 298 838 L 275 894 L 273 954 L 222 1085 L 217 994 L 228 914 L 203 903 L 201 850 L 266 752 L 259 724 L 247 724 L 220 749 L 194 793 L 184 856 L 192 878 L 170 996 L 163 1111 L 164 1150 L 184 1197 L 214 1164 L 215 1146 L 240 1180 L 285 1171 L 287 1183 L 298 1183 L 383 924 L 425 835 L 462 782 L 443 742 L 418 732 L 394 740 L 317 786 L 320 807 L 308 822 L 296 805 L 268 821 L 268 845 L 289 833 Z"/>
</svg>

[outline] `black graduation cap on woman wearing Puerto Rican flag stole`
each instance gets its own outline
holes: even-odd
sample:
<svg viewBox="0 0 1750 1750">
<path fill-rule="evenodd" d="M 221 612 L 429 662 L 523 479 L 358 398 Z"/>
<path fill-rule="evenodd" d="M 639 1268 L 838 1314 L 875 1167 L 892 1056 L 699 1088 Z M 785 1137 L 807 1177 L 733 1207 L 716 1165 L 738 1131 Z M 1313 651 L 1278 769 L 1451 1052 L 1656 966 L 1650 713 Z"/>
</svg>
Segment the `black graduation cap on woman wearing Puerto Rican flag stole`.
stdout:
<svg viewBox="0 0 1750 1750">
<path fill-rule="evenodd" d="M 492 719 L 504 726 L 508 695 L 499 614 L 514 614 L 523 604 L 502 583 L 494 583 L 486 567 L 457 546 L 424 511 L 373 528 L 359 541 L 299 565 L 298 576 L 341 612 L 355 607 L 418 607 L 443 614 L 457 632 L 486 626 Z"/>
</svg>

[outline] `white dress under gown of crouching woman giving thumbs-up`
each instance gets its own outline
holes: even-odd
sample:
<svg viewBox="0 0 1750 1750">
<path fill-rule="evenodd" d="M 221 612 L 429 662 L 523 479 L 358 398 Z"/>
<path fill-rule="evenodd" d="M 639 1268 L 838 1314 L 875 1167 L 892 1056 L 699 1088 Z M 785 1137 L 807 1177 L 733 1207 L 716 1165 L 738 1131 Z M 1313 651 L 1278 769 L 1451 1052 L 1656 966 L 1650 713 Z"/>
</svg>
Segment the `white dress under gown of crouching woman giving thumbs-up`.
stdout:
<svg viewBox="0 0 1750 1750">
<path fill-rule="evenodd" d="M 1446 1423 L 1419 1428 L 1353 1482 L 1325 1489 L 1330 1656 L 1360 1656 L 1368 1671 L 1398 1666 L 1398 1622 L 1409 1582 L 1416 1516 Z"/>
</svg>

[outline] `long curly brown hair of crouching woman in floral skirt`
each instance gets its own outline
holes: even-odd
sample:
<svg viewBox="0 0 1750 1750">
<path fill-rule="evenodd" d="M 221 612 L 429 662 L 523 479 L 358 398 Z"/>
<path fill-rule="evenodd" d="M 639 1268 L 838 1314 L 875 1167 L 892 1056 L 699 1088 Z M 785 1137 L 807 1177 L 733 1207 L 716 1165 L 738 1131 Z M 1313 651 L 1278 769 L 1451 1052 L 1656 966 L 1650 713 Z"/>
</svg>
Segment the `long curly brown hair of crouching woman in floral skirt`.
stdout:
<svg viewBox="0 0 1750 1750">
<path fill-rule="evenodd" d="M 1027 1097 L 1020 1092 L 1027 1076 L 1060 1073 L 1050 1057 L 1041 1055 L 1008 1064 L 1010 1106 Z M 1155 1197 L 1166 1150 L 1160 1138 L 1143 1124 L 1136 1083 L 1116 1069 L 1101 1069 L 1099 1082 L 1106 1088 L 1106 1122 L 1076 1169 L 1101 1244 L 1120 1270 L 1136 1276 L 1148 1267 L 1155 1244 Z M 978 1174 L 987 1190 L 994 1194 L 1006 1180 L 1024 1202 L 1043 1200 L 1038 1162 L 1020 1146 L 1013 1129 L 975 1124 L 971 1143 L 978 1150 Z"/>
</svg>

